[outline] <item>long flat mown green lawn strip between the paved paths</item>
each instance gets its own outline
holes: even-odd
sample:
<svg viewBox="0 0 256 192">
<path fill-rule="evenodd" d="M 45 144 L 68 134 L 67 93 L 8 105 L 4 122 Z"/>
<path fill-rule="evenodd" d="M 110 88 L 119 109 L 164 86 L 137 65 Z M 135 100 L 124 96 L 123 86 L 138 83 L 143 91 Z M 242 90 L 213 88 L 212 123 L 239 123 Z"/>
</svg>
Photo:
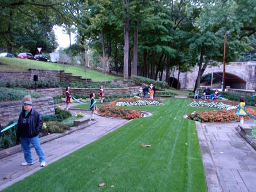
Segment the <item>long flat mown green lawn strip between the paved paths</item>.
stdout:
<svg viewBox="0 0 256 192">
<path fill-rule="evenodd" d="M 125 124 L 3 191 L 207 191 L 195 122 L 183 118 L 197 110 L 188 106 L 191 101 L 133 107 L 153 115 Z M 98 187 L 98 182 L 106 185 Z"/>
</svg>

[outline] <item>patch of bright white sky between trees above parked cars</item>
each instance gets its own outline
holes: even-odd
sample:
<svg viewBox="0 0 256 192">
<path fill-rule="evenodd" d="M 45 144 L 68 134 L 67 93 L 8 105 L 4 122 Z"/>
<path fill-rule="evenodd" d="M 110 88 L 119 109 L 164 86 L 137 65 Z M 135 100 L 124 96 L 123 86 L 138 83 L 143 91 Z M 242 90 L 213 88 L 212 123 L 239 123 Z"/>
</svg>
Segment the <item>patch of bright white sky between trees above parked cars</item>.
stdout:
<svg viewBox="0 0 256 192">
<path fill-rule="evenodd" d="M 60 47 L 67 48 L 69 46 L 69 36 L 64 34 L 63 28 L 60 26 L 53 26 L 53 30 L 55 32 L 55 36 L 57 39 L 57 42 L 59 43 L 59 49 Z M 75 43 L 75 34 L 71 34 L 71 44 Z"/>
</svg>

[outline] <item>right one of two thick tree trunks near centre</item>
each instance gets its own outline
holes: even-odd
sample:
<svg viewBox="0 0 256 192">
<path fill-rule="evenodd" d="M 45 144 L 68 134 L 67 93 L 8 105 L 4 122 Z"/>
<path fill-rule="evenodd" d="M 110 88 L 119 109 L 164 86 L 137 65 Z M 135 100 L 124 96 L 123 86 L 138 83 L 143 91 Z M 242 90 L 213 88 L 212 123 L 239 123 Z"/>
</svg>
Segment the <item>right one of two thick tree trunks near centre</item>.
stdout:
<svg viewBox="0 0 256 192">
<path fill-rule="evenodd" d="M 135 21 L 134 43 L 133 43 L 133 63 L 131 64 L 131 78 L 137 76 L 138 72 L 138 22 Z"/>
</svg>

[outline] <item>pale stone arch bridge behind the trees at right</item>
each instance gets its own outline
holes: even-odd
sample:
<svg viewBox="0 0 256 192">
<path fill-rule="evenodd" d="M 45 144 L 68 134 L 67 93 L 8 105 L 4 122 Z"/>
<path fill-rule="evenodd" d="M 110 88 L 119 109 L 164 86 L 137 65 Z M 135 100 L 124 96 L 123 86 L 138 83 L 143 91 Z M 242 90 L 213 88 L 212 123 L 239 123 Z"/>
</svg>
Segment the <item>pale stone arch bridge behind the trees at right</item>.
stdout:
<svg viewBox="0 0 256 192">
<path fill-rule="evenodd" d="M 229 62 L 225 66 L 225 86 L 230 86 L 231 89 L 255 90 L 255 66 L 256 61 Z M 198 70 L 199 67 L 195 66 L 190 72 L 180 73 L 179 88 L 194 89 Z M 217 66 L 207 66 L 207 69 L 205 69 L 202 77 L 208 77 L 208 81 L 206 81 L 206 84 L 201 84 L 200 86 L 210 87 L 213 85 L 212 88 L 221 89 L 222 76 L 223 64 L 218 64 Z M 177 88 L 177 79 L 178 72 L 176 70 L 174 76 L 171 75 L 170 77 L 172 87 Z"/>
</svg>

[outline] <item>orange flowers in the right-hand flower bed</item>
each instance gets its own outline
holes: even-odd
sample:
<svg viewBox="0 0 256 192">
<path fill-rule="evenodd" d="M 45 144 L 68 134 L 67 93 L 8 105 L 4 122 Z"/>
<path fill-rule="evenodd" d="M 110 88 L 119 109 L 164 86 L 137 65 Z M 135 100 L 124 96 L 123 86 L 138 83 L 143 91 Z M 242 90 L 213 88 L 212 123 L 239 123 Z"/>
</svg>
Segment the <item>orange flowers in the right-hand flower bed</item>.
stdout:
<svg viewBox="0 0 256 192">
<path fill-rule="evenodd" d="M 246 108 L 246 111 L 256 116 L 256 111 L 253 108 Z M 188 119 L 196 120 L 198 122 L 232 122 L 238 121 L 239 116 L 236 115 L 237 109 L 233 110 L 221 110 L 221 111 L 196 111 L 192 112 L 192 114 L 188 114 Z M 249 115 L 245 115 L 243 119 L 250 119 Z"/>
</svg>

